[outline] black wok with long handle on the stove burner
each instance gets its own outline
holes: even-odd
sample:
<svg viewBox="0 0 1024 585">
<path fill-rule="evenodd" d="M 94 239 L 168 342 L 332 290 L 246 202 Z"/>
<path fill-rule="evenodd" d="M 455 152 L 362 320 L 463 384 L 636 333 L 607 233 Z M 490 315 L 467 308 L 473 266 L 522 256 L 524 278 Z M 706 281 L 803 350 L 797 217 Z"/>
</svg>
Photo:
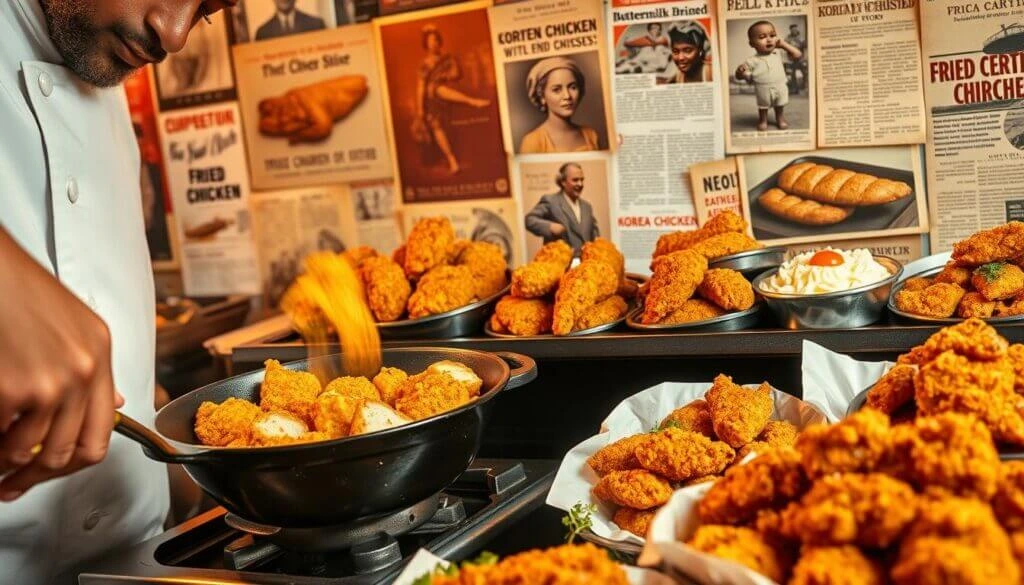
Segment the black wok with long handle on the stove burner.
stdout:
<svg viewBox="0 0 1024 585">
<path fill-rule="evenodd" d="M 342 371 L 338 354 L 316 360 L 332 361 L 335 371 Z M 118 417 L 115 430 L 142 444 L 148 457 L 182 464 L 214 500 L 243 518 L 283 528 L 343 525 L 409 507 L 454 482 L 480 447 L 487 403 L 503 389 L 537 377 L 534 361 L 518 353 L 384 350 L 385 366 L 411 374 L 441 360 L 472 368 L 483 380 L 480 398 L 454 411 L 370 434 L 260 449 L 201 446 L 193 430 L 200 404 L 230 396 L 258 403 L 263 371 L 176 399 L 157 413 L 157 432 L 124 416 Z M 308 371 L 311 363 L 302 360 L 285 368 Z"/>
</svg>

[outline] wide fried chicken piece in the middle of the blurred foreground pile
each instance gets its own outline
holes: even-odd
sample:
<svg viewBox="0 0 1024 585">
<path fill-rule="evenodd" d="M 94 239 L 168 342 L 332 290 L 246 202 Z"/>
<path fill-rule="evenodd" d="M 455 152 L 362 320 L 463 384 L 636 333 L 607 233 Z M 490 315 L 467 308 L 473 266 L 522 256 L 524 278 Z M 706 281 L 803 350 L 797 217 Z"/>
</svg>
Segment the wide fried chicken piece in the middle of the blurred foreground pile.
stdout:
<svg viewBox="0 0 1024 585">
<path fill-rule="evenodd" d="M 885 548 L 916 514 L 913 488 L 884 473 L 840 473 L 816 480 L 779 515 L 779 531 L 803 544 Z"/>
</svg>

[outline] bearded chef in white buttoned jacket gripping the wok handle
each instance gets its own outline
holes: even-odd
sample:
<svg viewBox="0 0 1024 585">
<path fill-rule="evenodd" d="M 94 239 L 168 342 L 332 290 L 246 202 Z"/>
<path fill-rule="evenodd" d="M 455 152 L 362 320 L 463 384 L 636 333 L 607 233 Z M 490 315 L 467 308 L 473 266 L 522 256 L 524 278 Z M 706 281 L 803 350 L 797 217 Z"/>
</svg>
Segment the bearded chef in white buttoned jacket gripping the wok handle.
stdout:
<svg viewBox="0 0 1024 585">
<path fill-rule="evenodd" d="M 117 407 L 153 423 L 155 384 L 139 153 L 118 84 L 233 3 L 0 2 L 0 584 L 66 583 L 162 529 L 165 466 L 111 436 Z"/>
</svg>

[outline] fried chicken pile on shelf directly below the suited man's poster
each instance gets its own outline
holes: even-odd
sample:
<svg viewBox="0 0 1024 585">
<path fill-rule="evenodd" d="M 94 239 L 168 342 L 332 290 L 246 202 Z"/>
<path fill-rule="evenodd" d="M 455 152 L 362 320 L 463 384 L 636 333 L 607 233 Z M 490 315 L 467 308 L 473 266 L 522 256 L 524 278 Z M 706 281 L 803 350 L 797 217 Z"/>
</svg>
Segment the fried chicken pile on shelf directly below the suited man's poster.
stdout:
<svg viewBox="0 0 1024 585">
<path fill-rule="evenodd" d="M 637 285 L 626 278 L 626 259 L 603 238 L 584 244 L 569 268 L 572 248 L 545 244 L 532 261 L 512 271 L 511 294 L 502 297 L 490 329 L 512 335 L 568 335 L 611 323 L 629 309 Z"/>
</svg>

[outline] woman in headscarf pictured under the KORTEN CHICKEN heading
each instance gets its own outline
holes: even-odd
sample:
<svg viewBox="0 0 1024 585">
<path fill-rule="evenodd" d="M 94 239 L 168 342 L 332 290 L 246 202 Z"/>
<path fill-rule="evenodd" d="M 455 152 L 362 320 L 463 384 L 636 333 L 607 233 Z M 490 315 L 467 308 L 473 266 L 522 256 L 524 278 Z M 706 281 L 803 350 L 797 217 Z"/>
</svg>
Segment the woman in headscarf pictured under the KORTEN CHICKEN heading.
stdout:
<svg viewBox="0 0 1024 585">
<path fill-rule="evenodd" d="M 601 149 L 600 135 L 578 124 L 572 116 L 587 94 L 587 80 L 575 60 L 556 56 L 541 59 L 526 75 L 530 103 L 546 117 L 519 142 L 519 153 L 577 153 Z"/>
</svg>

